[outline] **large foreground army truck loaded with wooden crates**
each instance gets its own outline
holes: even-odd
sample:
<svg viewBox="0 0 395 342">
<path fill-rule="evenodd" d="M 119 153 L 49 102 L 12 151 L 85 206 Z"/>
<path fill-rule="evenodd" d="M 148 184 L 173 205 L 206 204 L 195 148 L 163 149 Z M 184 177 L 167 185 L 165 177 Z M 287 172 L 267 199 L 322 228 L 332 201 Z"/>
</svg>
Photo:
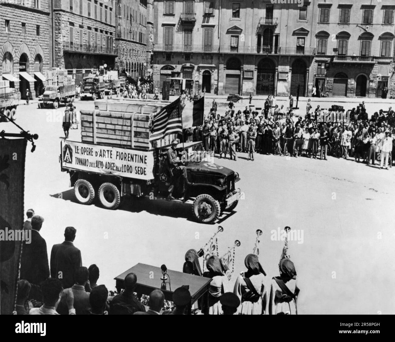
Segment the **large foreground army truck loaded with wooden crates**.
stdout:
<svg viewBox="0 0 395 342">
<path fill-rule="evenodd" d="M 142 104 L 141 104 L 142 103 Z M 96 198 L 116 209 L 123 197 L 149 197 L 153 205 L 165 200 L 192 203 L 192 215 L 201 223 L 214 223 L 231 212 L 241 197 L 239 174 L 202 156 L 201 142 L 179 144 L 191 185 L 183 191 L 174 183 L 167 149 L 174 136 L 150 140 L 149 122 L 166 104 L 160 102 L 95 102 L 94 111 L 81 111 L 82 142 L 61 142 L 61 170 L 70 174 L 70 186 L 81 204 Z"/>
</svg>

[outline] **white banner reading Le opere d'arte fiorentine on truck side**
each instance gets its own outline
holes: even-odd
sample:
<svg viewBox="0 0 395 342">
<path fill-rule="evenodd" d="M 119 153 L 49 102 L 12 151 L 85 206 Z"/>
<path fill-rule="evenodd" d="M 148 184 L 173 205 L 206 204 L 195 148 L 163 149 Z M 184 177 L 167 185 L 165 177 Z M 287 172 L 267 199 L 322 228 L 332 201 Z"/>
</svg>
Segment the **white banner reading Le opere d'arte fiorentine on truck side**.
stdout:
<svg viewBox="0 0 395 342">
<path fill-rule="evenodd" d="M 152 152 L 62 140 L 62 166 L 75 170 L 152 180 Z"/>
</svg>

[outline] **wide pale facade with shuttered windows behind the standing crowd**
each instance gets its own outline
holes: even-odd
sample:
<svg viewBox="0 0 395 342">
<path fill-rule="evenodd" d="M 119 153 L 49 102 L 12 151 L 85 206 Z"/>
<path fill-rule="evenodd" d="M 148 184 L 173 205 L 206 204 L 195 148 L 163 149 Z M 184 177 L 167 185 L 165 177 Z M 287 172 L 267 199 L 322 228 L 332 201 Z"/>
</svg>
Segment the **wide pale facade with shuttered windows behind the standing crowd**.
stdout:
<svg viewBox="0 0 395 342">
<path fill-rule="evenodd" d="M 395 5 L 353 0 L 154 2 L 154 84 L 192 92 L 395 96 Z M 369 27 L 367 27 L 369 26 Z M 340 45 L 339 45 L 340 44 Z"/>
</svg>

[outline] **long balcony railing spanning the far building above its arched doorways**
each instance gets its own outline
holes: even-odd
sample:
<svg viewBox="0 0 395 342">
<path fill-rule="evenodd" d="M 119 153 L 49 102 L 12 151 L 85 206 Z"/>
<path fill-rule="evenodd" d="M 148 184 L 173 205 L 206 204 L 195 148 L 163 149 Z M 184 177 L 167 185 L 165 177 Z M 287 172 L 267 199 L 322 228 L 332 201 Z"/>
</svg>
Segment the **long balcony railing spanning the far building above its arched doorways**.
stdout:
<svg viewBox="0 0 395 342">
<path fill-rule="evenodd" d="M 231 46 L 231 45 L 185 45 L 185 44 L 154 44 L 154 51 L 173 52 L 209 52 L 209 53 L 244 53 L 244 54 L 275 54 L 275 55 L 315 55 L 314 47 L 280 47 L 269 45 Z"/>
</svg>

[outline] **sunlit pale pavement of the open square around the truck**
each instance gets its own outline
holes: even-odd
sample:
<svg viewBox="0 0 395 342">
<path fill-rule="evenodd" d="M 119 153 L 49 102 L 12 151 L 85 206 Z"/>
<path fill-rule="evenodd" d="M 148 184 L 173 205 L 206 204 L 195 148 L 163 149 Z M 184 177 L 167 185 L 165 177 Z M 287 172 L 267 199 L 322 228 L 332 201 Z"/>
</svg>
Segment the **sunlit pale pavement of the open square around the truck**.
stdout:
<svg viewBox="0 0 395 342">
<path fill-rule="evenodd" d="M 77 110 L 93 109 L 91 101 L 75 104 Z M 245 100 L 243 106 L 247 104 Z M 48 253 L 64 240 L 64 228 L 73 226 L 83 265 L 96 263 L 98 283 L 109 289 L 115 289 L 115 276 L 137 263 L 181 271 L 185 252 L 203 246 L 218 224 L 196 223 L 191 204 L 164 200 L 126 200 L 116 211 L 96 203 L 77 204 L 68 174 L 60 172 L 63 130 L 61 122 L 49 122 L 52 112 L 38 109 L 36 103 L 21 105 L 16 121 L 39 134 L 36 151 L 31 153 L 28 144 L 26 152 L 25 211 L 34 208 L 45 218 L 41 233 Z M 58 109 L 60 118 L 62 112 L 63 107 Z M 367 112 L 372 113 L 368 106 Z M 11 123 L 0 123 L 0 130 L 19 132 Z M 70 130 L 70 140 L 81 141 L 80 131 Z M 271 231 L 290 226 L 299 230 L 303 242 L 289 242 L 301 289 L 300 314 L 395 313 L 395 295 L 388 291 L 395 286 L 395 266 L 389 261 L 395 243 L 394 168 L 379 170 L 333 157 L 320 161 L 256 155 L 252 162 L 239 154 L 236 162 L 216 162 L 239 172 L 237 186 L 245 194 L 233 215 L 220 220 L 224 232 L 217 235 L 220 255 L 235 239 L 241 241 L 232 285 L 245 269 L 244 258 L 252 253 L 258 228 L 263 231 L 260 261 L 267 278 L 278 274 L 284 242 L 273 240 Z"/>
</svg>

